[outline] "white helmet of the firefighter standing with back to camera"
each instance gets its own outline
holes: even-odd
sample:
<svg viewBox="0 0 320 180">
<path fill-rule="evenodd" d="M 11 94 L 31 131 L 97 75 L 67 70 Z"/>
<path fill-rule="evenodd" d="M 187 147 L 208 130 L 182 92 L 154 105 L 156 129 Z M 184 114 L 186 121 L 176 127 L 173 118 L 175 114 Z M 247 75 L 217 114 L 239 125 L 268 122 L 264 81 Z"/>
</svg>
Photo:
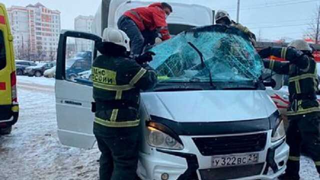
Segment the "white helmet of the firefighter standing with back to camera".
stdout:
<svg viewBox="0 0 320 180">
<path fill-rule="evenodd" d="M 130 51 L 130 39 L 120 29 L 114 27 L 107 27 L 103 30 L 102 34 L 103 42 L 113 42 L 126 48 L 126 51 Z"/>
</svg>

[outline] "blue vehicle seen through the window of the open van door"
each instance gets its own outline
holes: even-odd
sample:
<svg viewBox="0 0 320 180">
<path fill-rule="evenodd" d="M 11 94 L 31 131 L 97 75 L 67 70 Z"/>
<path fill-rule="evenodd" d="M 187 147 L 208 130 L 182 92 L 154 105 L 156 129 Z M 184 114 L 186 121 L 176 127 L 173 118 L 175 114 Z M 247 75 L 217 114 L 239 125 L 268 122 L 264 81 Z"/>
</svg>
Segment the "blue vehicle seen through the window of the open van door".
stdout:
<svg viewBox="0 0 320 180">
<path fill-rule="evenodd" d="M 79 72 L 91 68 L 91 51 L 81 51 L 75 54 L 73 58 L 67 59 L 65 64 L 66 78 L 74 81 Z"/>
</svg>

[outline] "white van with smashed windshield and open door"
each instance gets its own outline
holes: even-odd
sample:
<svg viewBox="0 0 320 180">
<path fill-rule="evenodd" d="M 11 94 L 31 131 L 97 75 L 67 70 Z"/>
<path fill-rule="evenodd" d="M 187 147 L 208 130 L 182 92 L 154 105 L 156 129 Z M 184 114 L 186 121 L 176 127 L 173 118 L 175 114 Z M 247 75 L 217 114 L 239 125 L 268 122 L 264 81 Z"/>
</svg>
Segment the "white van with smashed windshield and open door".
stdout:
<svg viewBox="0 0 320 180">
<path fill-rule="evenodd" d="M 95 34 L 60 34 L 55 81 L 58 137 L 62 144 L 92 148 L 92 82 L 66 78 L 72 40 L 101 41 L 127 9 L 150 2 L 102 0 Z M 288 145 L 280 114 L 261 79 L 262 63 L 237 29 L 211 25 L 214 13 L 195 4 L 171 3 L 176 35 L 156 45 L 150 65 L 159 82 L 141 92 L 141 145 L 137 174 L 143 180 L 274 179 L 285 170 Z M 194 14 L 201 18 L 195 18 Z M 234 43 L 238 48 L 229 49 Z M 97 55 L 93 52 L 92 61 Z M 276 79 L 277 87 L 282 84 Z"/>
</svg>

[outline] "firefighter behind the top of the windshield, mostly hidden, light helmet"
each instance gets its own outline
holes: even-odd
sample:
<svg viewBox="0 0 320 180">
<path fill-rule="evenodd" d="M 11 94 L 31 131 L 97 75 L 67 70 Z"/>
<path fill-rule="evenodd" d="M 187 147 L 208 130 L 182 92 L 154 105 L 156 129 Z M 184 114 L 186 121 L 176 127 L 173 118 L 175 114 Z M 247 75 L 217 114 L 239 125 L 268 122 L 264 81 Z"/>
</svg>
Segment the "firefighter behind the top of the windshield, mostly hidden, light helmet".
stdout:
<svg viewBox="0 0 320 180">
<path fill-rule="evenodd" d="M 249 39 L 254 46 L 256 44 L 256 37 L 247 27 L 241 25 L 240 23 L 231 20 L 230 15 L 225 10 L 218 10 L 215 15 L 215 23 L 222 25 L 230 25 L 240 29 L 242 32 L 249 36 Z"/>
</svg>

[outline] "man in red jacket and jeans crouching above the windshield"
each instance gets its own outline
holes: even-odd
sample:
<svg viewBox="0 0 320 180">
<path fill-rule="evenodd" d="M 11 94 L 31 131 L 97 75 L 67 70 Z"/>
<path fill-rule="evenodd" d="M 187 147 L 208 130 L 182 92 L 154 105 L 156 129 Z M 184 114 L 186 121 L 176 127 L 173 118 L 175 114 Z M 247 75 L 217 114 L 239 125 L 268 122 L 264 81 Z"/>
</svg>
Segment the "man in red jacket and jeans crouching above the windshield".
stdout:
<svg viewBox="0 0 320 180">
<path fill-rule="evenodd" d="M 143 47 L 146 44 L 154 44 L 156 37 L 162 40 L 170 38 L 165 19 L 171 12 L 171 5 L 165 2 L 152 3 L 147 7 L 137 7 L 124 12 L 117 25 L 130 38 L 132 55 L 141 54 Z"/>
</svg>

